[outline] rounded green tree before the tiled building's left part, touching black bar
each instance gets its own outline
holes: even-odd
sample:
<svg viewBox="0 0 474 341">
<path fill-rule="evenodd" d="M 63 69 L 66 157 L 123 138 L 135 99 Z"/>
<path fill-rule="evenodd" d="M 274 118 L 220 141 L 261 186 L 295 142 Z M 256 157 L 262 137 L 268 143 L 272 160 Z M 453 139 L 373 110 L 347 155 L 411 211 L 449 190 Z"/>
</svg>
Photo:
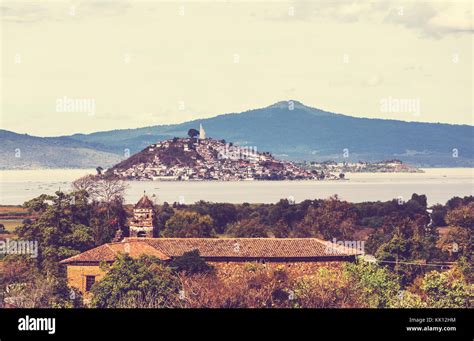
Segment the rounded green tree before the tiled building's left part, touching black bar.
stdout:
<svg viewBox="0 0 474 341">
<path fill-rule="evenodd" d="M 133 259 L 120 254 L 92 286 L 92 305 L 97 308 L 138 308 L 176 306 L 180 284 L 171 269 L 154 257 Z"/>
</svg>

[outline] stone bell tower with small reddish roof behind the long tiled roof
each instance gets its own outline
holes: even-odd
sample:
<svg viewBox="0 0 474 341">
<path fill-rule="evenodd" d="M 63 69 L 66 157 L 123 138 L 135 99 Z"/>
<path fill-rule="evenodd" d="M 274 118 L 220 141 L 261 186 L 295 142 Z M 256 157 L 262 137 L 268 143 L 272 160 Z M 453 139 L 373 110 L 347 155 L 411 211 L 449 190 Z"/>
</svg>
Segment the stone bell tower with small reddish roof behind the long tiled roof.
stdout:
<svg viewBox="0 0 474 341">
<path fill-rule="evenodd" d="M 155 229 L 155 206 L 153 202 L 143 194 L 133 208 L 133 218 L 130 220 L 130 237 L 153 238 Z"/>
</svg>

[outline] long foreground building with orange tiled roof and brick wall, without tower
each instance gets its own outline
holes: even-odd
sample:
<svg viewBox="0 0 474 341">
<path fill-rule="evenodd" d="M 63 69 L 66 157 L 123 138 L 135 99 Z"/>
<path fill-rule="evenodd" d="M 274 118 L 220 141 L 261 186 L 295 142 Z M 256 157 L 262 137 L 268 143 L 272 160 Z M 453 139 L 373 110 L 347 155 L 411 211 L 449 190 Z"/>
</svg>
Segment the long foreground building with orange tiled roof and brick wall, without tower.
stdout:
<svg viewBox="0 0 474 341">
<path fill-rule="evenodd" d="M 351 262 L 361 254 L 316 238 L 125 238 L 108 243 L 61 261 L 67 266 L 69 286 L 87 294 L 104 272 L 101 262 L 112 263 L 119 253 L 138 258 L 151 255 L 169 261 L 184 253 L 198 250 L 212 264 L 245 262 L 320 263 Z"/>
</svg>

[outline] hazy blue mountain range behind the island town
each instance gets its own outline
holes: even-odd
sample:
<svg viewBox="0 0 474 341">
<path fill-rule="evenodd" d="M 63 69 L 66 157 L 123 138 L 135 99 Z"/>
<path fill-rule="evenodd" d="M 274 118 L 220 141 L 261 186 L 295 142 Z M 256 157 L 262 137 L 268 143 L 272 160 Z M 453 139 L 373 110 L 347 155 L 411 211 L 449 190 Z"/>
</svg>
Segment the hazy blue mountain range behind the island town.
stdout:
<svg viewBox="0 0 474 341">
<path fill-rule="evenodd" d="M 280 159 L 379 161 L 425 167 L 474 167 L 474 127 L 346 116 L 298 101 L 181 124 L 35 137 L 0 130 L 0 169 L 109 167 L 157 141 L 207 136 L 268 151 Z M 20 156 L 18 157 L 18 151 Z"/>
</svg>

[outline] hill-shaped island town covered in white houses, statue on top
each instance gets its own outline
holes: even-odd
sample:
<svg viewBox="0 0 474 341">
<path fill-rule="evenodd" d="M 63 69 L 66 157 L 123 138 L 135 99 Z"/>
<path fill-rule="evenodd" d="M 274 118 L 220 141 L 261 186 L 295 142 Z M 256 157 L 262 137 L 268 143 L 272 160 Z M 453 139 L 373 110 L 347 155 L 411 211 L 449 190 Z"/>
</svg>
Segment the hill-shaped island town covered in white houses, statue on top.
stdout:
<svg viewBox="0 0 474 341">
<path fill-rule="evenodd" d="M 256 147 L 207 138 L 202 126 L 189 138 L 159 141 L 107 170 L 126 180 L 308 180 L 320 173 L 275 159 Z M 198 136 L 199 135 L 199 136 Z M 337 179 L 332 174 L 325 178 Z"/>
</svg>

